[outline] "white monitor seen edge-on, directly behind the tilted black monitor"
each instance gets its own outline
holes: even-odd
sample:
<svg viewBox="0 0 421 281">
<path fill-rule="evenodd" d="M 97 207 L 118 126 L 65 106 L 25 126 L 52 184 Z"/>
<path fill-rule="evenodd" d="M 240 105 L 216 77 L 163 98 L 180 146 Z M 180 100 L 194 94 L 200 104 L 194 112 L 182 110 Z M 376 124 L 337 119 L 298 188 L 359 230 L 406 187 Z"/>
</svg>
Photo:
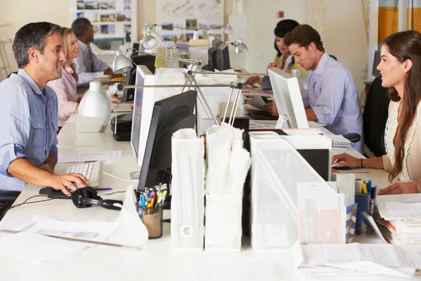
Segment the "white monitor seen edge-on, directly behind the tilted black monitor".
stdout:
<svg viewBox="0 0 421 281">
<path fill-rule="evenodd" d="M 154 74 L 145 66 L 138 65 L 135 69 L 136 85 L 153 85 L 155 78 Z M 143 161 L 143 150 L 140 150 L 139 143 L 141 138 L 141 123 L 142 123 L 142 105 L 143 96 L 153 94 L 154 88 L 136 88 L 134 91 L 134 103 L 133 103 L 133 120 L 131 128 L 131 147 L 135 154 L 136 159 L 141 158 Z"/>
</svg>

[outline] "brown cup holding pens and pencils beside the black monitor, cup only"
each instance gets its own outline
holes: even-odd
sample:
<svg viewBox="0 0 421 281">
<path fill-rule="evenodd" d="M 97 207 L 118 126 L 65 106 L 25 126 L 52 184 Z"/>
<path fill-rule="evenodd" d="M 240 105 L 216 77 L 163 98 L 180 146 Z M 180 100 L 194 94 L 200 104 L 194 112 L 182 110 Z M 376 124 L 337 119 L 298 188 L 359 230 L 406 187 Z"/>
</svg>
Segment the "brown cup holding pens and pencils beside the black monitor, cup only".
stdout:
<svg viewBox="0 0 421 281">
<path fill-rule="evenodd" d="M 146 226 L 149 239 L 161 238 L 163 206 L 152 208 L 137 206 L 137 211 L 140 219 Z"/>
</svg>

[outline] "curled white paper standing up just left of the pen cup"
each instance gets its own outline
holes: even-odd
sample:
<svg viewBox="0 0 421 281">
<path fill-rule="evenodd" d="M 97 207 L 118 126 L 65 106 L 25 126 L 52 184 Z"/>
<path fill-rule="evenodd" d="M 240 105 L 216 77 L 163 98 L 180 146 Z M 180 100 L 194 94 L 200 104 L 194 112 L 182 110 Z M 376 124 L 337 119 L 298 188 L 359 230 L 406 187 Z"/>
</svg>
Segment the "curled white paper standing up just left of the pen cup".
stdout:
<svg viewBox="0 0 421 281">
<path fill-rule="evenodd" d="M 147 242 L 149 234 L 136 211 L 133 185 L 126 190 L 123 207 L 114 220 L 120 223 L 119 228 L 108 238 L 109 242 L 139 247 Z"/>
</svg>

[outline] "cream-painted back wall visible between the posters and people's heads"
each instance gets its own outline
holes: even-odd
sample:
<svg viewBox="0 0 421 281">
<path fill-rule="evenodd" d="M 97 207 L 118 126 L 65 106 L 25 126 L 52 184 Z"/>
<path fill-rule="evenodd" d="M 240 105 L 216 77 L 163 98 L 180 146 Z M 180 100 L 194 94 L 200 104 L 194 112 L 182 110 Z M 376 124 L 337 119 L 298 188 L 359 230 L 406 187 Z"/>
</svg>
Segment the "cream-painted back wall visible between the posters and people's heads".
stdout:
<svg viewBox="0 0 421 281">
<path fill-rule="evenodd" d="M 6 0 L 0 0 L 4 2 Z M 225 21 L 233 12 L 233 1 L 225 0 Z M 307 22 L 307 0 L 243 0 L 244 13 L 248 17 L 246 44 L 246 68 L 250 72 L 265 72 L 272 62 L 274 50 L 274 27 L 281 20 L 278 11 L 284 11 L 284 19 L 291 18 L 300 23 Z M 0 23 L 11 25 L 0 27 L 0 39 L 13 38 L 15 32 L 27 22 L 49 21 L 58 25 L 69 25 L 67 0 L 15 0 L 13 4 L 1 5 Z M 155 22 L 155 1 L 138 1 L 138 33 L 145 22 Z M 361 1 L 326 0 L 325 48 L 338 57 L 351 71 L 359 93 L 363 90 L 363 71 L 367 65 L 367 39 L 363 21 Z M 8 58 L 12 70 L 17 70 L 8 46 Z"/>
</svg>

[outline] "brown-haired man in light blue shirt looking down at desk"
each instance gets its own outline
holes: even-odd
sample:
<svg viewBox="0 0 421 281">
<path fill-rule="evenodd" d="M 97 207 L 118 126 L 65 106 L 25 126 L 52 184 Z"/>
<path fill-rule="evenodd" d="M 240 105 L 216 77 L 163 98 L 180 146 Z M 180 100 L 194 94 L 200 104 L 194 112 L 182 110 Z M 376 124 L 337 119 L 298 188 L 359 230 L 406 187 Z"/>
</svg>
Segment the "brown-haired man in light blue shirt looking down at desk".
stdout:
<svg viewBox="0 0 421 281">
<path fill-rule="evenodd" d="M 320 35 L 309 25 L 298 25 L 285 36 L 285 44 L 307 74 L 310 121 L 327 124 L 335 135 L 359 133 L 353 147 L 364 152 L 363 115 L 352 75 L 345 65 L 325 53 Z"/>
</svg>

